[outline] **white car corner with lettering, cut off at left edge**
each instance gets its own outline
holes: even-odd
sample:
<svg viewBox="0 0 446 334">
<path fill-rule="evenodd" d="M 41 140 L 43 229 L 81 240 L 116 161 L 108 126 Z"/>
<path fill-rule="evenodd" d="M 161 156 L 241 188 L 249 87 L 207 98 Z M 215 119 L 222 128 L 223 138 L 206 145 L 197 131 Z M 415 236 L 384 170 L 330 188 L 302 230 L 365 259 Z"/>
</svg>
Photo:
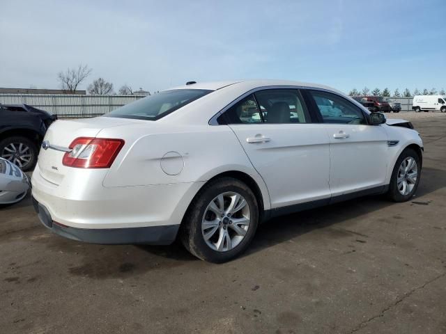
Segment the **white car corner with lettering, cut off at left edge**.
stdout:
<svg viewBox="0 0 446 334">
<path fill-rule="evenodd" d="M 28 189 L 26 174 L 12 162 L 0 158 L 0 204 L 20 202 Z"/>
</svg>

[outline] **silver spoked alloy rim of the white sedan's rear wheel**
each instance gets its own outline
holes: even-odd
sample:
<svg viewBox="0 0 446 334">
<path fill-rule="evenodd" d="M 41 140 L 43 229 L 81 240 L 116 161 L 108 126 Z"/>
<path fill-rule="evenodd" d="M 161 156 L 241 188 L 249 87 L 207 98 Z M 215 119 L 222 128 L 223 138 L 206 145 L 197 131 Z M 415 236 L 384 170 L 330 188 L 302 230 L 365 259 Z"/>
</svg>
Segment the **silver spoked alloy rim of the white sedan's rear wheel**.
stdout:
<svg viewBox="0 0 446 334">
<path fill-rule="evenodd" d="M 239 193 L 220 193 L 204 211 L 201 221 L 204 241 L 219 252 L 235 248 L 247 234 L 250 214 L 247 201 Z"/>
</svg>

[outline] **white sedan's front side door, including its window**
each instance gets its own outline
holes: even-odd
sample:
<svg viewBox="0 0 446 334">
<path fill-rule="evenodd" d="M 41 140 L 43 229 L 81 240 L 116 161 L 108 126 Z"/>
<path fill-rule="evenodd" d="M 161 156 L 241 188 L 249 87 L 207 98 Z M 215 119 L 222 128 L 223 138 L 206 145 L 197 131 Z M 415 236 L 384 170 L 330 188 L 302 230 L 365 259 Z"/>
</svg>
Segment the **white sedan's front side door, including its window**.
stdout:
<svg viewBox="0 0 446 334">
<path fill-rule="evenodd" d="M 372 189 L 385 184 L 387 132 L 381 125 L 369 125 L 359 106 L 341 95 L 324 90 L 307 90 L 317 111 L 327 104 L 339 116 L 324 116 L 321 122 L 330 138 L 330 191 L 332 196 Z M 326 111 L 325 111 L 326 114 Z"/>
</svg>

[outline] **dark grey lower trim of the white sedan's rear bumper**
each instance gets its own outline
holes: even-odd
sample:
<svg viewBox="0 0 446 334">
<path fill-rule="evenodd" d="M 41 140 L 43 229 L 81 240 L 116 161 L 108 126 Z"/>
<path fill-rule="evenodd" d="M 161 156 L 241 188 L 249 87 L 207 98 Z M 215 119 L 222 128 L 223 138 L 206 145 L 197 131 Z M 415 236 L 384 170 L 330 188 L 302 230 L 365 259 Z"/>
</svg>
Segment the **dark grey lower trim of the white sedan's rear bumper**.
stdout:
<svg viewBox="0 0 446 334">
<path fill-rule="evenodd" d="M 152 244 L 169 245 L 176 239 L 180 225 L 148 226 L 142 228 L 72 228 L 52 220 L 48 209 L 33 198 L 39 220 L 52 232 L 68 239 L 91 244 Z"/>
</svg>

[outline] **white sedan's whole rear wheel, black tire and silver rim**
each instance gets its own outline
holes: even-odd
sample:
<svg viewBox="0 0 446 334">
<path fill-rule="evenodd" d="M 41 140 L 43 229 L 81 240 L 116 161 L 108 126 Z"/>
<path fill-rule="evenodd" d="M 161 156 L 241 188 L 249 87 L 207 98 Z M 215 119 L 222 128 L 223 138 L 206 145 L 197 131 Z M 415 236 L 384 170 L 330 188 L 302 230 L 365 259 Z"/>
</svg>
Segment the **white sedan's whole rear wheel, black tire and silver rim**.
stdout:
<svg viewBox="0 0 446 334">
<path fill-rule="evenodd" d="M 222 263 L 243 253 L 259 224 L 259 205 L 249 187 L 232 177 L 209 182 L 187 209 L 180 238 L 187 250 Z"/>
</svg>

